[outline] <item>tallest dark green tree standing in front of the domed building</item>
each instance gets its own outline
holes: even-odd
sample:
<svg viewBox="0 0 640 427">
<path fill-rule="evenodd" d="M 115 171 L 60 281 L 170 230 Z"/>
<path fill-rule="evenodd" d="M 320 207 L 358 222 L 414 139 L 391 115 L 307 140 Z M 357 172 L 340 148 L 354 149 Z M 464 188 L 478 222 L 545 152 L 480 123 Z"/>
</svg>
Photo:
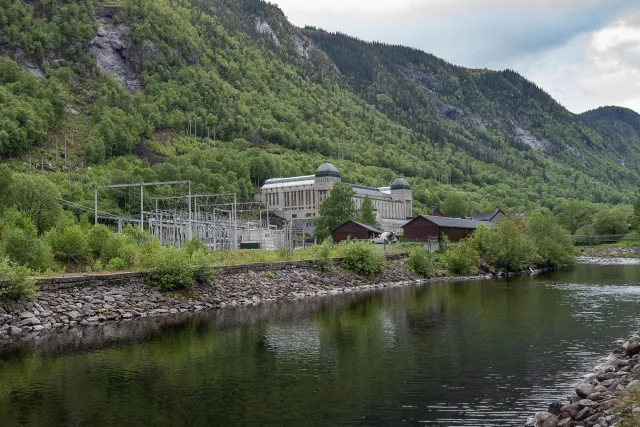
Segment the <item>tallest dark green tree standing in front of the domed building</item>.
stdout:
<svg viewBox="0 0 640 427">
<path fill-rule="evenodd" d="M 333 186 L 318 209 L 315 222 L 315 235 L 318 240 L 324 240 L 340 224 L 355 217 L 356 209 L 353 204 L 353 189 L 338 183 Z"/>
</svg>

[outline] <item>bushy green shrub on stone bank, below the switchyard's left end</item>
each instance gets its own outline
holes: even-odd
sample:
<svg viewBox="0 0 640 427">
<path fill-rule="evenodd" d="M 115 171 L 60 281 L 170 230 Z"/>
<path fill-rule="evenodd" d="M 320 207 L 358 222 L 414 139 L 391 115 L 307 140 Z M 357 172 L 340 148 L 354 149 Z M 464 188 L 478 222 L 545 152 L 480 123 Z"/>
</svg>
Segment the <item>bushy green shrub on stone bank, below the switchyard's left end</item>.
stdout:
<svg viewBox="0 0 640 427">
<path fill-rule="evenodd" d="M 149 250 L 144 260 L 145 266 L 149 269 L 149 284 L 165 292 L 193 287 L 190 261 L 189 255 L 176 247 Z"/>
</svg>

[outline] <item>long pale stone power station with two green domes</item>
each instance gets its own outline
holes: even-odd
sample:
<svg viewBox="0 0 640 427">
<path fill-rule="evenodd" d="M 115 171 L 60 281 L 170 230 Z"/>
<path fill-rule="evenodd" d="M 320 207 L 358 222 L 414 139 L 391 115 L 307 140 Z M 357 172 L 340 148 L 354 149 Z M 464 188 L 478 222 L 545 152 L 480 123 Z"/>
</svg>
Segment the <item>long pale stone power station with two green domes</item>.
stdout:
<svg viewBox="0 0 640 427">
<path fill-rule="evenodd" d="M 273 178 L 266 181 L 260 199 L 285 219 L 312 220 L 318 215 L 320 204 L 329 196 L 333 186 L 341 182 L 340 171 L 329 161 L 320 165 L 315 175 Z M 369 196 L 373 201 L 378 225 L 384 231 L 401 231 L 412 216 L 411 186 L 404 178 L 396 179 L 390 187 L 365 187 L 351 184 L 353 202 L 360 209 Z"/>
</svg>

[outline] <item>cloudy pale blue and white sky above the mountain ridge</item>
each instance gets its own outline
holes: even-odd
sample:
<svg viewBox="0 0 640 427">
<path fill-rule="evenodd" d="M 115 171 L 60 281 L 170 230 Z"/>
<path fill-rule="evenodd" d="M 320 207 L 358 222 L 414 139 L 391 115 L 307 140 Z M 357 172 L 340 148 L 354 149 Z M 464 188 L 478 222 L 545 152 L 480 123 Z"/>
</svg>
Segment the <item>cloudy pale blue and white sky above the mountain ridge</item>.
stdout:
<svg viewBox="0 0 640 427">
<path fill-rule="evenodd" d="M 640 0 L 271 0 L 298 26 L 512 68 L 573 112 L 640 112 Z"/>
</svg>

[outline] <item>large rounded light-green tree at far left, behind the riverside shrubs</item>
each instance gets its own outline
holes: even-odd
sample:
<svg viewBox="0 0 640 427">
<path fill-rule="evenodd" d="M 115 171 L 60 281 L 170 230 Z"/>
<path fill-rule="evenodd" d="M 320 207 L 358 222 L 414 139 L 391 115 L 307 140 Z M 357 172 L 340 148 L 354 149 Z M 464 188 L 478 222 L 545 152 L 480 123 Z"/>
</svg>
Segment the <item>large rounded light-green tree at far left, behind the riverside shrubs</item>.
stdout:
<svg viewBox="0 0 640 427">
<path fill-rule="evenodd" d="M 58 188 L 43 176 L 14 175 L 9 194 L 10 203 L 31 218 L 40 234 L 53 227 L 62 213 Z"/>
</svg>

